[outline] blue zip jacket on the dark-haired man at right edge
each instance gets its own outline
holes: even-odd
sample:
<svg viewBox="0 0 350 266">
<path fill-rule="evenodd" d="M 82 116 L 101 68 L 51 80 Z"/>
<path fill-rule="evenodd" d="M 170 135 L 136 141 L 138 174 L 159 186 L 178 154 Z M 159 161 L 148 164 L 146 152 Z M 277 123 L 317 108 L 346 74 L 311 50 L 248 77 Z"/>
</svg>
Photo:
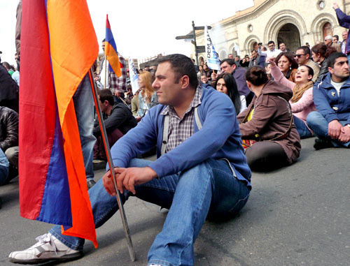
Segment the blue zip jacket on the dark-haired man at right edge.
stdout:
<svg viewBox="0 0 350 266">
<path fill-rule="evenodd" d="M 350 77 L 340 88 L 340 95 L 330 83 L 330 73 L 323 76 L 321 82 L 314 84 L 312 91 L 316 109 L 330 123 L 343 120 L 350 124 Z"/>
</svg>

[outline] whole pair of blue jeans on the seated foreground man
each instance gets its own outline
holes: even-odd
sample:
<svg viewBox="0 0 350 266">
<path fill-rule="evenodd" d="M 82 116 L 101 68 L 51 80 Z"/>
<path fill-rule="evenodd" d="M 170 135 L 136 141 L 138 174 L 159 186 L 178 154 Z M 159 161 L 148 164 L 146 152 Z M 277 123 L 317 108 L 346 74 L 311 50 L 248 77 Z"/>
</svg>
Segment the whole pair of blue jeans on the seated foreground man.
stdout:
<svg viewBox="0 0 350 266">
<path fill-rule="evenodd" d="M 130 167 L 145 167 L 151 161 L 134 158 Z M 208 159 L 193 168 L 162 179 L 135 186 L 141 200 L 169 208 L 167 219 L 148 252 L 148 263 L 159 265 L 193 265 L 193 243 L 207 216 L 230 217 L 244 207 L 250 189 L 232 175 L 226 161 Z M 118 210 L 116 197 L 111 197 L 99 180 L 89 190 L 94 223 L 102 226 Z M 125 192 L 125 202 L 132 193 Z M 61 234 L 54 226 L 50 233 L 71 249 L 82 250 L 84 239 Z"/>
</svg>

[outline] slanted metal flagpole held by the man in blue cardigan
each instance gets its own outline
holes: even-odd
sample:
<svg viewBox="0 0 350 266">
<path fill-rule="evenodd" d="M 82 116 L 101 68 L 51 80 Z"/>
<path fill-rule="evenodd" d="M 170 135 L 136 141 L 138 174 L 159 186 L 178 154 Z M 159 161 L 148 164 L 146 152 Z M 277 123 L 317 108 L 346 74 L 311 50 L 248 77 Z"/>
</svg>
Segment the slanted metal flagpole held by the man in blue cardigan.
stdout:
<svg viewBox="0 0 350 266">
<path fill-rule="evenodd" d="M 122 200 L 120 198 L 120 192 L 117 189 L 116 174 L 113 171 L 114 166 L 113 166 L 113 161 L 112 161 L 112 156 L 111 156 L 111 149 L 109 147 L 109 141 L 107 138 L 106 127 L 104 126 L 104 120 L 102 119 L 101 108 L 99 106 L 99 103 L 97 102 L 98 96 L 97 96 L 96 84 L 94 83 L 94 80 L 92 79 L 92 68 L 89 71 L 89 75 L 90 75 L 90 83 L 91 83 L 91 87 L 92 87 L 92 95 L 94 96 L 94 106 L 96 107 L 97 117 L 99 119 L 99 127 L 101 128 L 102 139 L 104 142 L 104 149 L 106 149 L 106 155 L 107 155 L 107 160 L 109 163 L 109 169 L 111 169 L 114 189 L 116 189 L 116 194 L 117 194 L 116 198 L 117 198 L 117 202 L 118 202 L 119 212 L 120 212 L 120 216 L 121 216 L 122 222 L 123 222 L 125 237 L 127 239 L 127 248 L 129 249 L 130 259 L 132 261 L 135 261 L 136 260 L 136 253 L 134 250 L 134 246 L 132 245 L 132 239 L 130 236 L 129 226 L 127 226 L 127 217 L 125 216 L 124 206 L 123 206 Z"/>
</svg>

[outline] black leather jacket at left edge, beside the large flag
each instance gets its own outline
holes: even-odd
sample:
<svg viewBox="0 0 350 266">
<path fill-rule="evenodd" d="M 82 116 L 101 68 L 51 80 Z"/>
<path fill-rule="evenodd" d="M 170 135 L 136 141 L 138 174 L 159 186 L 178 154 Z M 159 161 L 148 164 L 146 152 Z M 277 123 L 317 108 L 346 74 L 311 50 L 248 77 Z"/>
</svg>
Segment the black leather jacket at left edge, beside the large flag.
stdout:
<svg viewBox="0 0 350 266">
<path fill-rule="evenodd" d="M 0 106 L 0 147 L 3 152 L 18 146 L 18 113 Z"/>
</svg>

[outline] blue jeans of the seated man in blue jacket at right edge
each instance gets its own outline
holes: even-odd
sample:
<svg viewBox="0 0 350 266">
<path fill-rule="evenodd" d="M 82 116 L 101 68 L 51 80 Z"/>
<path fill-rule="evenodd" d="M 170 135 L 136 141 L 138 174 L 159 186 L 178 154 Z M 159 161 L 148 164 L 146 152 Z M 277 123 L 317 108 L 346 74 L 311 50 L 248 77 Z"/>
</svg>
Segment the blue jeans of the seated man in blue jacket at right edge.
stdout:
<svg viewBox="0 0 350 266">
<path fill-rule="evenodd" d="M 339 123 L 344 126 L 346 123 L 345 120 L 339 120 Z M 310 112 L 307 116 L 307 126 L 314 131 L 315 135 L 321 139 L 329 139 L 332 142 L 334 147 L 349 147 L 349 142 L 339 142 L 338 140 L 330 139 L 328 135 L 328 121 L 325 120 L 323 115 L 319 112 Z"/>
</svg>

